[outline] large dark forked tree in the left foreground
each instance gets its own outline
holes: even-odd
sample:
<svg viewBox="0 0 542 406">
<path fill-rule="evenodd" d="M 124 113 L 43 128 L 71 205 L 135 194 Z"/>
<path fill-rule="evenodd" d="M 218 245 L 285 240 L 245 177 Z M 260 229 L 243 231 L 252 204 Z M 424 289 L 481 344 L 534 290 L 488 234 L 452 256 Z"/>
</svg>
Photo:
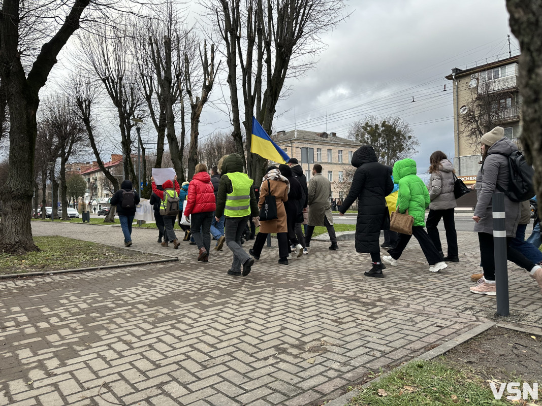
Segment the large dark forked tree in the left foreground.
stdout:
<svg viewBox="0 0 542 406">
<path fill-rule="evenodd" d="M 0 191 L 2 222 L 0 251 L 24 254 L 38 251 L 30 226 L 33 195 L 36 112 L 39 92 L 45 86 L 57 56 L 69 38 L 97 19 L 111 21 L 118 12 L 135 12 L 135 0 L 3 0 L 0 13 L 0 80 L 8 83 L 5 100 L 9 110 L 9 174 Z M 21 54 L 21 32 L 31 27 L 39 40 L 31 41 L 34 54 Z M 92 27 L 92 24 L 87 26 Z M 34 51 L 32 51 L 34 49 Z"/>
</svg>

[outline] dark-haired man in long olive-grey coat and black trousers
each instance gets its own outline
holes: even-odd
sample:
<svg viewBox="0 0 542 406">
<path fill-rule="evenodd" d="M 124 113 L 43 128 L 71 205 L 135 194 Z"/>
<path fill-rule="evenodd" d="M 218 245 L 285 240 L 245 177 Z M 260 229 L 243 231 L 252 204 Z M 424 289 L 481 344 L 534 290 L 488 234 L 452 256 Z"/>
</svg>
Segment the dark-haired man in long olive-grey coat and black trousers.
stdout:
<svg viewBox="0 0 542 406">
<path fill-rule="evenodd" d="M 322 176 L 322 166 L 315 163 L 312 167 L 312 179 L 308 182 L 308 227 L 305 235 L 307 249 L 311 246 L 311 238 L 315 226 L 325 226 L 330 236 L 330 250 L 338 250 L 335 228 L 333 228 L 333 215 L 330 207 L 331 182 Z"/>
</svg>

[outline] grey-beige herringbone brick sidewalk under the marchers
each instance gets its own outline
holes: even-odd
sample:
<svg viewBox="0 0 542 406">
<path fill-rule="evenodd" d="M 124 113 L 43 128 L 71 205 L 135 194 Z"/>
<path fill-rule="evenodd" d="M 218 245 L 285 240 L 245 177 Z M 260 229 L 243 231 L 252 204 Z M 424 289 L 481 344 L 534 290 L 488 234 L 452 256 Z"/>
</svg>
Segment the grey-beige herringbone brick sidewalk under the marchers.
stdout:
<svg viewBox="0 0 542 406">
<path fill-rule="evenodd" d="M 124 246 L 113 227 L 33 223 L 33 232 Z M 184 263 L 0 282 L 0 405 L 320 405 L 495 309 L 468 291 L 474 233 L 458 234 L 461 263 L 436 274 L 412 240 L 384 279 L 363 276 L 369 256 L 353 241 L 339 251 L 314 242 L 282 266 L 274 240 L 242 278 L 227 276 L 226 247 L 202 264 L 194 246 L 173 251 L 156 237 L 134 230 L 133 248 Z M 534 281 L 515 266 L 509 278 L 512 321 L 541 325 Z"/>
</svg>

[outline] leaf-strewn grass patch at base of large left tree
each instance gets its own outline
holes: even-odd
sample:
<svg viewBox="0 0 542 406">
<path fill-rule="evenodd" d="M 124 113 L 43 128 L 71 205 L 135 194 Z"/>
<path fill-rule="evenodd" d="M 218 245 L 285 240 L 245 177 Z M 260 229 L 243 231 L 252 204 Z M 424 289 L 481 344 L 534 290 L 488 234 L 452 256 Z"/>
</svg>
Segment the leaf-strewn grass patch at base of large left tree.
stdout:
<svg viewBox="0 0 542 406">
<path fill-rule="evenodd" d="M 151 254 L 59 237 L 34 237 L 40 252 L 0 254 L 0 274 L 75 269 L 156 259 Z"/>
</svg>

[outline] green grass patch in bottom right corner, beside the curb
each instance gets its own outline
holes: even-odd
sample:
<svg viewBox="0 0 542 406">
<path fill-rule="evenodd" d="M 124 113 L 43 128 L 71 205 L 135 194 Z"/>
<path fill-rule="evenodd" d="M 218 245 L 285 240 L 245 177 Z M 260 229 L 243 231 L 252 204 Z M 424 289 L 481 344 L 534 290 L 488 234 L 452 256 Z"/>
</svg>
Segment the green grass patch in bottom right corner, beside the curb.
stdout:
<svg viewBox="0 0 542 406">
<path fill-rule="evenodd" d="M 489 384 L 441 361 L 412 361 L 364 389 L 349 406 L 509 405 Z"/>
</svg>

